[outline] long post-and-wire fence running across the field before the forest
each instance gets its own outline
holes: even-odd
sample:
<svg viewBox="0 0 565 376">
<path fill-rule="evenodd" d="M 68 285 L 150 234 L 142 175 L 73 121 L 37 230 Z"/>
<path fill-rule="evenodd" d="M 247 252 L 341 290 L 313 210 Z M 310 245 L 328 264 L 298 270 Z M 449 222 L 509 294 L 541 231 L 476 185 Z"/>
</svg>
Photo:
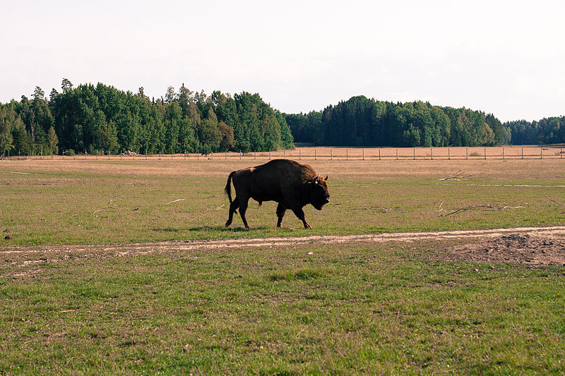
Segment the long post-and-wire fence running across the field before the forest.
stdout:
<svg viewBox="0 0 565 376">
<path fill-rule="evenodd" d="M 220 152 L 211 154 L 75 154 L 65 155 L 6 155 L 5 159 L 88 159 L 88 160 L 213 160 L 213 159 L 277 159 L 295 160 L 425 160 L 425 159 L 563 159 L 561 146 L 509 147 L 297 147 L 275 152 Z"/>
</svg>

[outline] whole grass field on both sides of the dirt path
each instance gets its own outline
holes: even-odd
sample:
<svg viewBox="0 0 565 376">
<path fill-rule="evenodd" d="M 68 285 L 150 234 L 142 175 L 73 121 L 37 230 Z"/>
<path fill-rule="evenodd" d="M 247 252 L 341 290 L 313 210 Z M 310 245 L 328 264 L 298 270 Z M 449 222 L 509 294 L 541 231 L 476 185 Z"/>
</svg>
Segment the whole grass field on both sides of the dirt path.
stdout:
<svg viewBox="0 0 565 376">
<path fill-rule="evenodd" d="M 563 225 L 561 159 L 308 161 L 331 193 L 313 230 L 292 213 L 276 229 L 272 202 L 224 229 L 227 174 L 261 162 L 0 161 L 0 373 L 565 372 L 563 266 L 446 260 L 459 239 L 126 252 Z"/>
</svg>

